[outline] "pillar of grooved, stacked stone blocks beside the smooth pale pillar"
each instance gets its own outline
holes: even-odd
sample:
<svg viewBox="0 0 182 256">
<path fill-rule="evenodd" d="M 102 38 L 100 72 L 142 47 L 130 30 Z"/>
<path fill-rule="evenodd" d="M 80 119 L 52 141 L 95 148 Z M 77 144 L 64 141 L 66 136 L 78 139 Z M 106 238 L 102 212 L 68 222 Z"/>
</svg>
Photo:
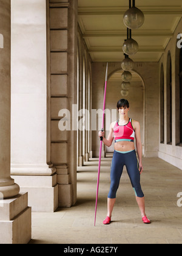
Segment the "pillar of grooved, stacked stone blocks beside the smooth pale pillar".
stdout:
<svg viewBox="0 0 182 256">
<path fill-rule="evenodd" d="M 48 72 L 50 73 L 51 161 L 57 169 L 59 207 L 76 202 L 77 1 L 47 0 L 49 18 Z M 49 83 L 49 81 L 48 81 Z M 59 124 L 67 111 L 69 127 Z M 61 124 L 62 125 L 62 124 Z"/>
</svg>

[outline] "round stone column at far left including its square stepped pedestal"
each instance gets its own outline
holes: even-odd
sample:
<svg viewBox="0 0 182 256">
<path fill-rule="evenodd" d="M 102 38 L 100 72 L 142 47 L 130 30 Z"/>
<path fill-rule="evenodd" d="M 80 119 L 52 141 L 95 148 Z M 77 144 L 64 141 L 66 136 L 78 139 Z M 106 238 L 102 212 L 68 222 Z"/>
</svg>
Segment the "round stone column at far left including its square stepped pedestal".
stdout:
<svg viewBox="0 0 182 256">
<path fill-rule="evenodd" d="M 10 0 L 0 0 L 0 243 L 28 243 L 31 239 L 31 208 L 27 193 L 19 194 L 19 185 L 10 177 L 11 115 L 11 24 Z"/>
</svg>

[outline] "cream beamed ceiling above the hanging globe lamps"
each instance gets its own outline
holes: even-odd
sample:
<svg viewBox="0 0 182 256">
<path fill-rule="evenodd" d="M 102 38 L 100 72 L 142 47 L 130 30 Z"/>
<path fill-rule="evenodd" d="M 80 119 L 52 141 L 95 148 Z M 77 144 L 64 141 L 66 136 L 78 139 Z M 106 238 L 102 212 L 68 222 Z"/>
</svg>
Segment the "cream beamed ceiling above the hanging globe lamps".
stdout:
<svg viewBox="0 0 182 256">
<path fill-rule="evenodd" d="M 158 62 L 182 16 L 181 0 L 136 0 L 145 16 L 143 26 L 132 30 L 139 51 L 135 62 Z M 129 0 L 78 0 L 78 23 L 93 62 L 120 62 L 127 28 L 123 15 Z"/>
</svg>

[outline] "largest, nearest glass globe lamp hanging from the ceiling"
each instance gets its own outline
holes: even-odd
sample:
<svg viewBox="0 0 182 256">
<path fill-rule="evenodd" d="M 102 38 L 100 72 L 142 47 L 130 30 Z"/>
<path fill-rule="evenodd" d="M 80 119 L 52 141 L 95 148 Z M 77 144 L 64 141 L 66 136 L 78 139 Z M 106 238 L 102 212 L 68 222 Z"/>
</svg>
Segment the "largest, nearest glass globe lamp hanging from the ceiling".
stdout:
<svg viewBox="0 0 182 256">
<path fill-rule="evenodd" d="M 144 14 L 135 6 L 124 13 L 123 21 L 129 29 L 139 29 L 144 23 Z"/>
</svg>

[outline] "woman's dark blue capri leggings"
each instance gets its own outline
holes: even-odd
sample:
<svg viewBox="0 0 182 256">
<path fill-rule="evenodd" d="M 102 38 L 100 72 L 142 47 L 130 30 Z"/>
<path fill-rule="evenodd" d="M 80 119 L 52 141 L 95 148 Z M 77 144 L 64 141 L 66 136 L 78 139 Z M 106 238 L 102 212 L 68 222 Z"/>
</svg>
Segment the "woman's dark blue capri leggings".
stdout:
<svg viewBox="0 0 182 256">
<path fill-rule="evenodd" d="M 126 165 L 127 173 L 130 177 L 135 195 L 144 197 L 140 185 L 140 171 L 138 169 L 138 161 L 136 159 L 135 150 L 126 152 L 125 154 L 114 151 L 111 168 L 110 168 L 110 191 L 108 198 L 116 198 L 116 191 L 120 185 L 121 175 L 123 173 L 123 166 Z"/>
</svg>

